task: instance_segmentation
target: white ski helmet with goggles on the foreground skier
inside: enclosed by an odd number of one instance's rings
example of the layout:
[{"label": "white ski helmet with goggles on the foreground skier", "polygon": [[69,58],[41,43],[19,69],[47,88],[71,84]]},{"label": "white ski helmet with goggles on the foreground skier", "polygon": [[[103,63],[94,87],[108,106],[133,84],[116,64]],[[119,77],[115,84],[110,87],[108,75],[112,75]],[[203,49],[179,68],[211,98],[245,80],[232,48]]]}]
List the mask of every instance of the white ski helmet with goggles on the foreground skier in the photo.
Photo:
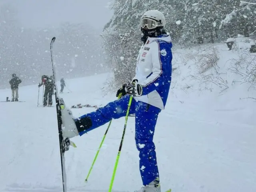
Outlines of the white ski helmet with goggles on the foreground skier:
[{"label": "white ski helmet with goggles on the foreground skier", "polygon": [[156,27],[165,27],[166,19],[164,14],[158,10],[149,10],[145,12],[141,18],[140,26],[148,29],[154,29]]}]

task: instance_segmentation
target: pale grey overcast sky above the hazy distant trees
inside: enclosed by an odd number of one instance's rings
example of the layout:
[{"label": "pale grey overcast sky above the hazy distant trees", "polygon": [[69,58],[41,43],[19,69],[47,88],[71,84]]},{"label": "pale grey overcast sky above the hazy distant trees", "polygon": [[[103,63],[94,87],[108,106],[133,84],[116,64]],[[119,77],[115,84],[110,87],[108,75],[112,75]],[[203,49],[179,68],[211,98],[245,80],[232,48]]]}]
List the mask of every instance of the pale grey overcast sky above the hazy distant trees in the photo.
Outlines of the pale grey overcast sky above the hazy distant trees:
[{"label": "pale grey overcast sky above the hazy distant trees", "polygon": [[102,29],[112,16],[112,0],[0,0],[18,11],[24,27],[49,26],[60,22],[86,22]]}]

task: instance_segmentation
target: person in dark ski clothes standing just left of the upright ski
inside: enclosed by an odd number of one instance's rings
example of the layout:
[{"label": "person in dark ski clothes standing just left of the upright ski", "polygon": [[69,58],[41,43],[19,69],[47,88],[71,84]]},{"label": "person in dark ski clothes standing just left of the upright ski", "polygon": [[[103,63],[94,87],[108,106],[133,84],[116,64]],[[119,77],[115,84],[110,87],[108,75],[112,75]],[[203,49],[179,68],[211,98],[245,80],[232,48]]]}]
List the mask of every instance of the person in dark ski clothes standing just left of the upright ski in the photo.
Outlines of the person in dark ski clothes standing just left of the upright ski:
[{"label": "person in dark ski clothes standing just left of the upright ski", "polygon": [[42,75],[42,82],[39,83],[38,87],[44,85],[44,101],[43,106],[52,106],[52,94],[54,89],[54,82],[51,78],[49,78],[47,75]]}]

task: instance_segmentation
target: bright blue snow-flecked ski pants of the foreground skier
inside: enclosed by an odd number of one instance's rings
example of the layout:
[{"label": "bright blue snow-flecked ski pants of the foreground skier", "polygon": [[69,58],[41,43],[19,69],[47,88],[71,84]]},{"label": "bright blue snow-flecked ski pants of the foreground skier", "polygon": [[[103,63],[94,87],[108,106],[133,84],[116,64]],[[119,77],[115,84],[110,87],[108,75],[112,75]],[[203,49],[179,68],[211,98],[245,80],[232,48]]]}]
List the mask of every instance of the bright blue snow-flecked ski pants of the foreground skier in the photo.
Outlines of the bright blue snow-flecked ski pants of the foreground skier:
[{"label": "bright blue snow-flecked ski pants of the foreground skier", "polygon": [[[90,118],[92,121],[89,128],[79,132],[80,136],[106,124],[112,118],[118,119],[126,116],[129,99],[130,96],[123,96],[122,98],[99,108],[95,112],[79,117],[77,120],[80,120],[80,122],[83,122],[83,118]],[[159,177],[153,136],[160,111],[161,110],[155,106],[132,99],[129,113],[135,113],[136,116],[135,141],[137,149],[140,152],[140,174],[143,185],[147,185],[156,177]]]}]

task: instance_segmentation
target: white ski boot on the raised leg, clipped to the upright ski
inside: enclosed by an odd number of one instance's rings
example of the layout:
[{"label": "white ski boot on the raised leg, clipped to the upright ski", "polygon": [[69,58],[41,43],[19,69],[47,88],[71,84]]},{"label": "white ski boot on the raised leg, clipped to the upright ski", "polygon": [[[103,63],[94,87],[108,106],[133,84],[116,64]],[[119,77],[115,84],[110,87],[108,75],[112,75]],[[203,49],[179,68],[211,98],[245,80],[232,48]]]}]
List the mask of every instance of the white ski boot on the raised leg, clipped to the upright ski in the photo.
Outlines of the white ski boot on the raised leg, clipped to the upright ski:
[{"label": "white ski boot on the raised leg, clipped to the upright ski", "polygon": [[78,130],[74,121],[72,111],[66,108],[62,98],[60,98],[61,118],[62,118],[62,136],[63,138],[73,138],[78,136]]}]

